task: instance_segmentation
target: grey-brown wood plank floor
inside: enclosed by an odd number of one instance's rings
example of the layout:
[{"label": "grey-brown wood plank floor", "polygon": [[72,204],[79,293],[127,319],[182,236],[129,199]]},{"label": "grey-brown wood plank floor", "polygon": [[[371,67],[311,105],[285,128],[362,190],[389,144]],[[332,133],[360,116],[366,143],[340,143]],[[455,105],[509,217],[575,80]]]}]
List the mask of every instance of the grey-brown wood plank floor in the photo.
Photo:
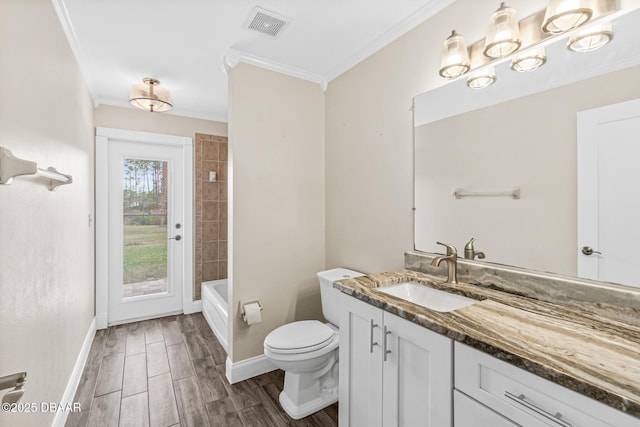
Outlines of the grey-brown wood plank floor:
[{"label": "grey-brown wood plank floor", "polygon": [[284,373],[236,384],[226,353],[200,313],[100,330],[67,427],[272,427],[338,425],[338,405],[292,420],[278,403]]}]

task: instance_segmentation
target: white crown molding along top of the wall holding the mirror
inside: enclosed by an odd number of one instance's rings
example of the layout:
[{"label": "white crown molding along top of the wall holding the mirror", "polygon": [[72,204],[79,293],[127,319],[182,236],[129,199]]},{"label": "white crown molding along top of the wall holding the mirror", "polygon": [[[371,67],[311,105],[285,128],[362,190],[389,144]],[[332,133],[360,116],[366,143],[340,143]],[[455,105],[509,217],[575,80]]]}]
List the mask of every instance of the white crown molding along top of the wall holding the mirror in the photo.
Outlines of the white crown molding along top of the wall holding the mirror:
[{"label": "white crown molding along top of the wall holding the mirror", "polygon": [[389,43],[399,39],[418,25],[431,18],[436,13],[453,4],[456,0],[430,0],[426,5],[418,9],[415,13],[395,25],[389,31],[360,49],[336,67],[328,71],[324,78],[330,82],[355,65],[367,59]]}]

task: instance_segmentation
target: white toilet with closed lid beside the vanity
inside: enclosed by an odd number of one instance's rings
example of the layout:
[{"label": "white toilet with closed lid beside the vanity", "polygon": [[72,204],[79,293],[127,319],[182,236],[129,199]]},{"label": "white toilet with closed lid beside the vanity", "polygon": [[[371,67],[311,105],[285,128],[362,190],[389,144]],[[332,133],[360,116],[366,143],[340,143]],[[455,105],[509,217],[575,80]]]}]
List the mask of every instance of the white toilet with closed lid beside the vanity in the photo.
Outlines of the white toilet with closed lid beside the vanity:
[{"label": "white toilet with closed lid beside the vanity", "polygon": [[330,323],[302,320],[274,329],[264,339],[264,354],[285,371],[280,405],[293,419],[338,401],[338,326],[340,291],[333,282],[362,273],[344,268],[318,273],[322,314]]}]

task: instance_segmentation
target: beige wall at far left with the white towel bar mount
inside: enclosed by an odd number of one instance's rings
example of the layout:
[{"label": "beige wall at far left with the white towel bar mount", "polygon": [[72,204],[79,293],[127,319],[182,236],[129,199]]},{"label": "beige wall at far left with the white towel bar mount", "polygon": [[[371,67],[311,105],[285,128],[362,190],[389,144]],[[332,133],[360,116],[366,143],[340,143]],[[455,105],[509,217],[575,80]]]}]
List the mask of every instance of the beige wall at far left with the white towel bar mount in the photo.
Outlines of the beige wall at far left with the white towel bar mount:
[{"label": "beige wall at far left with the white towel bar mount", "polygon": [[[1,4],[0,146],[73,183],[0,185],[0,376],[28,372],[21,402],[60,402],[94,316],[93,104],[51,2]],[[0,411],[0,425],[53,416]]]}]

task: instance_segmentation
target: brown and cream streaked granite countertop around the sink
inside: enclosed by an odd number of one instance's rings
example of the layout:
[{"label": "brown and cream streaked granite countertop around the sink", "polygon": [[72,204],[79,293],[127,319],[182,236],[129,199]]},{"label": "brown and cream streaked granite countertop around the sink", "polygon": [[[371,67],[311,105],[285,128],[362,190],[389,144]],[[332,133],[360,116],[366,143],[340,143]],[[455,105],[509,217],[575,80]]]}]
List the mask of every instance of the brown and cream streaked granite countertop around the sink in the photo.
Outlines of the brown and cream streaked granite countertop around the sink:
[{"label": "brown and cream streaked granite countertop around the sink", "polygon": [[[479,300],[441,313],[375,289],[405,281]],[[339,280],[334,287],[498,359],[640,418],[640,327],[565,306],[412,270]]]}]

